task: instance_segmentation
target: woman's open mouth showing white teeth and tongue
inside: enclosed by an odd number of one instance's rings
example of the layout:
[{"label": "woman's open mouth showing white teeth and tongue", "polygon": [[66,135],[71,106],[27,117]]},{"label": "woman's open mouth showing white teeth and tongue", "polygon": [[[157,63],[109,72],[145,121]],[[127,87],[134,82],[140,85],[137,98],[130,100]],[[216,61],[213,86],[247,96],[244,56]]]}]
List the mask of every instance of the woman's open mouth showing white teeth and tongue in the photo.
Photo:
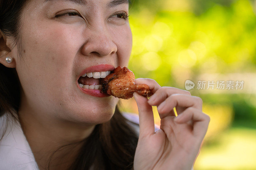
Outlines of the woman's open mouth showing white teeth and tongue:
[{"label": "woman's open mouth showing white teeth and tongue", "polygon": [[83,89],[101,90],[101,79],[110,74],[110,71],[85,73],[78,79],[78,84]]}]

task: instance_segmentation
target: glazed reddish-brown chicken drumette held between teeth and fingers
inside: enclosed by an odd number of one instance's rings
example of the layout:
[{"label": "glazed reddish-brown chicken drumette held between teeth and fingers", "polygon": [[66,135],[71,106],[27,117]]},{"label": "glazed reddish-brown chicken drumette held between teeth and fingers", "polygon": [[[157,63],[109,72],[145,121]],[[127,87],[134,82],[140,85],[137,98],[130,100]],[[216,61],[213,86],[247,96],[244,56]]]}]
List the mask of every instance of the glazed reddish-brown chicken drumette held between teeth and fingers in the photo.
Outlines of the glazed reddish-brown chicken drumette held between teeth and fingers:
[{"label": "glazed reddish-brown chicken drumette held between teeth and fingers", "polygon": [[101,83],[101,92],[121,99],[132,98],[133,92],[137,92],[144,97],[153,95],[148,85],[135,85],[135,76],[133,72],[126,67],[121,68],[119,66],[115,68],[106,78],[101,80]]}]

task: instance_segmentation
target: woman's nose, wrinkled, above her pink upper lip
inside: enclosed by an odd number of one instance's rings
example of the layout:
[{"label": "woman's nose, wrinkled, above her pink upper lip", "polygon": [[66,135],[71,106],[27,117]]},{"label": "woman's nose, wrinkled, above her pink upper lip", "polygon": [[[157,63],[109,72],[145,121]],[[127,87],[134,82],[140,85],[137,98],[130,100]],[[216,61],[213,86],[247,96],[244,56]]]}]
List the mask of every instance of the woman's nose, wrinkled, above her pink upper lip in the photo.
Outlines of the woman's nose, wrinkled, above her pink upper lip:
[{"label": "woman's nose, wrinkled, above her pink upper lip", "polygon": [[[87,34],[88,35],[88,34]],[[82,47],[82,53],[85,56],[97,55],[100,57],[115,54],[117,51],[116,44],[113,42],[111,35],[104,31],[94,31],[87,37],[87,41]]]}]

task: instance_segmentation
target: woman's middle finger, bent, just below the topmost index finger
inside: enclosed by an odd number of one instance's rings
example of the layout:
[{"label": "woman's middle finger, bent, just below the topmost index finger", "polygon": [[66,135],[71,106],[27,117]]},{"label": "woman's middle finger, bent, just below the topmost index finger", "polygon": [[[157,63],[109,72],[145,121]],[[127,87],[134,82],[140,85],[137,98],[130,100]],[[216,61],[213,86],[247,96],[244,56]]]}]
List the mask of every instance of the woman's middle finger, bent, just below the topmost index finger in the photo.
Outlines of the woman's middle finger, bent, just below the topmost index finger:
[{"label": "woman's middle finger, bent, just below the topmost index finger", "polygon": [[186,90],[181,90],[175,87],[161,87],[150,97],[150,99],[148,100],[148,104],[150,104],[151,106],[157,106],[162,103],[167,97],[175,93],[191,96],[190,92]]}]

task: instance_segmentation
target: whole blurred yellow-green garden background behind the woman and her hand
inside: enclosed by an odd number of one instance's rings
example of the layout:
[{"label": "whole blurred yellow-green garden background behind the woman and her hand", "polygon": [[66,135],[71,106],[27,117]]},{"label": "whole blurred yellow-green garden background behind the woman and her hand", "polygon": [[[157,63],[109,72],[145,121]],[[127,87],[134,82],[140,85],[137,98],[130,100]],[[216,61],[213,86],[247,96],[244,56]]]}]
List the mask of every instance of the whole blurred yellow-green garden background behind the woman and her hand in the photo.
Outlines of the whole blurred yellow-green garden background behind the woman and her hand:
[{"label": "whole blurred yellow-green garden background behind the woman and her hand", "polygon": [[[129,69],[135,77],[184,90],[185,81],[193,81],[190,92],[203,99],[203,111],[211,117],[194,169],[256,169],[255,2],[135,0],[129,15]],[[244,85],[198,90],[198,80],[243,80]],[[137,113],[133,100],[122,101],[125,111]]]}]

